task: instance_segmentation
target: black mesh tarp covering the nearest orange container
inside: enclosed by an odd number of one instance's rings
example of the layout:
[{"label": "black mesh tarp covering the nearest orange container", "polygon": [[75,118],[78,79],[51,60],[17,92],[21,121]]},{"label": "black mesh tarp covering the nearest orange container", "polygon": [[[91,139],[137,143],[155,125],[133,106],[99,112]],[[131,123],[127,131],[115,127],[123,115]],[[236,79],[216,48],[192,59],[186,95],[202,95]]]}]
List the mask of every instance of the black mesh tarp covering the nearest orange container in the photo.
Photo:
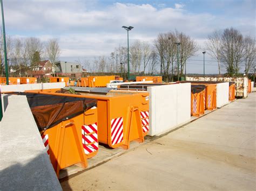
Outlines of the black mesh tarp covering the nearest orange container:
[{"label": "black mesh tarp covering the nearest orange container", "polygon": [[14,94],[26,96],[39,131],[52,128],[62,121],[83,114],[94,106],[97,107],[97,100],[92,98],[33,93]]}]

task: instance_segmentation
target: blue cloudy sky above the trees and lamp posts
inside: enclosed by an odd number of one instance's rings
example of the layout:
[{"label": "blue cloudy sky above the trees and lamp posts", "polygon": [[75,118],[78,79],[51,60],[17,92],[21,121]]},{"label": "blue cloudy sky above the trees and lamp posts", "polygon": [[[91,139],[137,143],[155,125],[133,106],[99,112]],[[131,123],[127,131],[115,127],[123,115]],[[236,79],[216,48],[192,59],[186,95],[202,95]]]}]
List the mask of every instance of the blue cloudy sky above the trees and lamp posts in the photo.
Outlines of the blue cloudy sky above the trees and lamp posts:
[{"label": "blue cloudy sky above the trees and lamp posts", "polygon": [[[177,29],[197,41],[197,56],[187,73],[203,73],[204,41],[213,30],[234,27],[255,37],[255,0],[93,1],[3,0],[5,32],[14,37],[58,38],[60,60],[76,61],[126,46],[122,26],[133,26],[130,42],[152,42],[160,32]],[[206,60],[212,58],[206,54]],[[217,62],[206,62],[206,73],[218,73]]]}]

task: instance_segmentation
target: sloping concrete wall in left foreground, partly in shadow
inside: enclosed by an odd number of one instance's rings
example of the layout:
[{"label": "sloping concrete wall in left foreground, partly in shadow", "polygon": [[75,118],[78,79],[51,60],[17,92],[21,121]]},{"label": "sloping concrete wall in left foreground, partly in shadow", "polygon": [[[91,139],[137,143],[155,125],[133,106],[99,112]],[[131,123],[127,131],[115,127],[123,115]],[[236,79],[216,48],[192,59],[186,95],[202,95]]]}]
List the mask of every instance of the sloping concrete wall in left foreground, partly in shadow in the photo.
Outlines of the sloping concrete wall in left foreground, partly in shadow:
[{"label": "sloping concrete wall in left foreground, partly in shadow", "polygon": [[62,190],[26,97],[8,102],[0,124],[0,190]]}]

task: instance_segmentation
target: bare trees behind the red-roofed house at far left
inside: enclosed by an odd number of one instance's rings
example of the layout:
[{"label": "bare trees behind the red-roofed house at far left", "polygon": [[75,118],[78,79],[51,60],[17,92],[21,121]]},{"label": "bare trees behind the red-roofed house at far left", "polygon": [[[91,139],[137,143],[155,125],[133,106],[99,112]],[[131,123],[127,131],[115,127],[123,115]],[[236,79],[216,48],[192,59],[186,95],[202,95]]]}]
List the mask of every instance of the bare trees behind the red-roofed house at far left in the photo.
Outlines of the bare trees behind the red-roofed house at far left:
[{"label": "bare trees behind the red-roofed house at far left", "polygon": [[[2,39],[2,38],[1,38]],[[0,71],[4,73],[3,41],[0,44]],[[6,52],[9,70],[12,75],[21,76],[29,67],[36,66],[41,59],[48,59],[55,63],[59,59],[60,47],[58,40],[53,38],[42,42],[39,38],[11,38],[6,37]]]}]

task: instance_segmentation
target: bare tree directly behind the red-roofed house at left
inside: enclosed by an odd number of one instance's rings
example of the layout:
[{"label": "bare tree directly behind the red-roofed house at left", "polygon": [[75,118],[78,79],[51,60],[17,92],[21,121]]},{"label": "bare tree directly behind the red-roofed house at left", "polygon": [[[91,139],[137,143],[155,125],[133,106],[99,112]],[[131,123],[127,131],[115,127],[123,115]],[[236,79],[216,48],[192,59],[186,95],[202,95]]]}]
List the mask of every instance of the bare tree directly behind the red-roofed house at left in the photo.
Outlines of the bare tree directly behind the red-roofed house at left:
[{"label": "bare tree directly behind the red-roofed house at left", "polygon": [[38,52],[39,54],[42,54],[43,52],[43,44],[39,38],[30,37],[25,39],[25,48],[26,48],[26,54],[28,55],[28,60],[30,62],[30,65],[33,66],[35,63],[32,63],[33,61],[33,55],[35,52]]}]

